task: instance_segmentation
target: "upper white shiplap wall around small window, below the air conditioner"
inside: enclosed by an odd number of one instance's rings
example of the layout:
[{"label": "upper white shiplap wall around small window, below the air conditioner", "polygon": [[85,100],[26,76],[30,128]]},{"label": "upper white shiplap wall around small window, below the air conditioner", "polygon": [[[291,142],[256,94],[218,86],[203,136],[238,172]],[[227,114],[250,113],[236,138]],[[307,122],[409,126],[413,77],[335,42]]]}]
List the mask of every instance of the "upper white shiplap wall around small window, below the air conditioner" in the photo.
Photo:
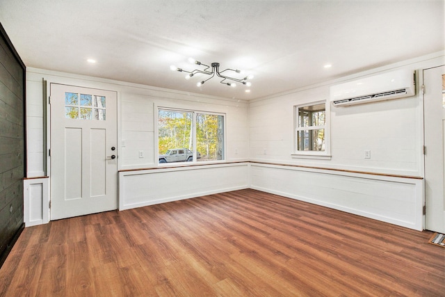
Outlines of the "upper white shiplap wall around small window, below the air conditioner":
[{"label": "upper white shiplap wall around small window, below the air conditioner", "polygon": [[[411,70],[418,70],[414,67]],[[419,92],[415,97],[347,107],[329,106],[329,97],[330,85],[325,85],[250,103],[251,159],[398,175],[423,174],[423,109]],[[332,158],[295,158],[291,155],[293,106],[320,100],[327,100],[330,108]],[[371,151],[371,159],[364,159],[365,150]]]}]

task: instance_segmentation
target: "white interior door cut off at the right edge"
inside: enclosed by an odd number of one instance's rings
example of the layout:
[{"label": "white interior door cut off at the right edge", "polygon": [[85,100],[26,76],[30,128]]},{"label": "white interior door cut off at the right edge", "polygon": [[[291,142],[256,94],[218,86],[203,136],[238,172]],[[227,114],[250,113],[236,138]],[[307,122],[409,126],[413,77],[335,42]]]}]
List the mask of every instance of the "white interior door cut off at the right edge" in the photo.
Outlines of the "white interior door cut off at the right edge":
[{"label": "white interior door cut off at the right edge", "polygon": [[445,66],[423,70],[426,229],[445,233]]}]

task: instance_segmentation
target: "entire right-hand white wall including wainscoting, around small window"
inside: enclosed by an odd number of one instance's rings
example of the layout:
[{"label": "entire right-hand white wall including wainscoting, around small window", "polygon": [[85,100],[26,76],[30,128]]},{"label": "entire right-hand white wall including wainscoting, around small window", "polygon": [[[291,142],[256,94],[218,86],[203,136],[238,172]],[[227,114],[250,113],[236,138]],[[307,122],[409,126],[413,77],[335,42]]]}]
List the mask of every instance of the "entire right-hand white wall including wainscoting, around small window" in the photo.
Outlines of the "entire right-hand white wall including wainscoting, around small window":
[{"label": "entire right-hand white wall including wainscoting, around small window", "polygon": [[[423,95],[419,86],[423,69],[443,63],[444,53],[437,53],[254,100],[249,105],[250,160],[268,164],[252,164],[250,187],[422,230]],[[416,71],[414,97],[327,106],[332,157],[291,155],[293,106],[320,100],[330,104],[330,86],[401,68]],[[371,159],[364,159],[365,150],[371,151]]]}]

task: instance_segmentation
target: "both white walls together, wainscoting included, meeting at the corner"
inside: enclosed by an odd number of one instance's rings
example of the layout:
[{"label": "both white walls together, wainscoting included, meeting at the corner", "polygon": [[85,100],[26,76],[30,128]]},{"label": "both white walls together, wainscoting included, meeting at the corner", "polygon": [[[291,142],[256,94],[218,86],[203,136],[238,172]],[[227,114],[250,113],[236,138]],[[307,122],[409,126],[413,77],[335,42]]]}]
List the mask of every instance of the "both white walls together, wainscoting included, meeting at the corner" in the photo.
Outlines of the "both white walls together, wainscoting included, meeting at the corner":
[{"label": "both white walls together, wainscoting included, meeting at the corner", "polygon": [[[53,83],[118,92],[118,168],[122,170],[119,180],[122,209],[251,187],[421,230],[424,200],[423,97],[419,92],[415,97],[387,102],[332,107],[331,159],[297,159],[291,156],[293,106],[328,100],[329,88],[335,83],[396,68],[415,70],[419,86],[421,70],[443,62],[443,53],[432,54],[253,102],[237,102],[220,97],[29,68],[26,85],[28,176],[41,177],[44,174],[42,79],[45,79]],[[177,170],[157,168],[154,123],[156,106],[225,113],[227,161],[259,163],[188,166]],[[144,151],[145,157],[142,159],[138,156],[139,150]],[[371,159],[364,159],[364,150],[371,150]],[[346,175],[335,170],[351,172],[346,178]],[[189,176],[193,176],[195,181],[214,178],[207,189],[204,184],[195,182],[179,183],[175,191],[171,191],[171,188],[162,186],[162,183],[154,182],[170,177],[187,180]],[[238,181],[234,182],[233,178]],[[43,180],[50,182],[51,179]],[[140,188],[136,188],[138,184],[141,185]],[[358,192],[357,184],[366,185],[363,189],[371,191],[371,195],[366,195],[364,191]],[[307,185],[311,185],[314,191],[309,191],[310,187],[308,190]],[[401,191],[397,191],[398,189]],[[401,205],[405,207],[400,207]]]}]

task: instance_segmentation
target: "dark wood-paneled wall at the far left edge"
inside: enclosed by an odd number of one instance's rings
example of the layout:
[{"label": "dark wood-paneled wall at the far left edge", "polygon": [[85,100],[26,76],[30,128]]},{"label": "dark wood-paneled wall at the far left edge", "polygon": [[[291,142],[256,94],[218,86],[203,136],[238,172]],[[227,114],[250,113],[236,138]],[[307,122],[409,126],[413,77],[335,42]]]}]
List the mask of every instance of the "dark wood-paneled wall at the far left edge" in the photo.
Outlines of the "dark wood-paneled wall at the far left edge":
[{"label": "dark wood-paneled wall at the far left edge", "polygon": [[24,228],[25,74],[0,24],[0,266]]}]

